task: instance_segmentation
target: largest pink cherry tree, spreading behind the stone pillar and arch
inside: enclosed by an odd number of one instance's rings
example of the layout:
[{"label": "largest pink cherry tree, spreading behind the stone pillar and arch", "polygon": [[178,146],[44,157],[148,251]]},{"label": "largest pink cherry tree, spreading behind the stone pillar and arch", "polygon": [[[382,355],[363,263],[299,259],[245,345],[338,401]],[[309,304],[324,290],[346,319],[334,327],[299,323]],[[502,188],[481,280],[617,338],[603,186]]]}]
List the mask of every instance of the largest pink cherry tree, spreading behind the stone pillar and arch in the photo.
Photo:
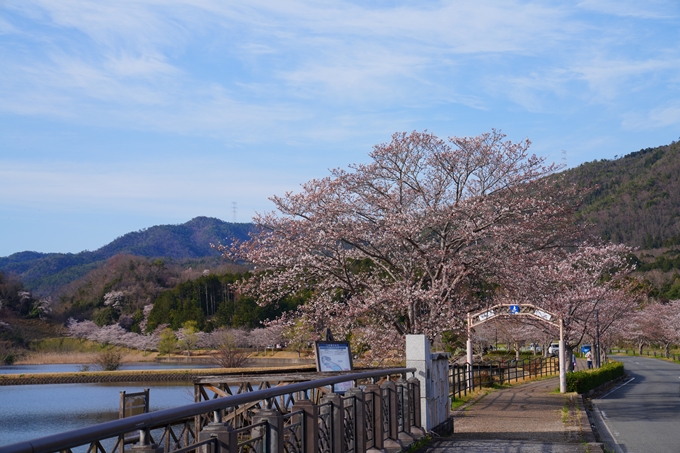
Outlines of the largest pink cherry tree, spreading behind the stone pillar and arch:
[{"label": "largest pink cherry tree, spreading behind the stone pillar and arch", "polygon": [[585,192],[529,145],[495,130],[395,134],[368,163],[272,197],[250,241],[218,248],[260,271],[240,291],[262,304],[311,292],[296,322],[361,332],[380,357],[403,351],[404,334],[465,334],[468,312],[497,303],[559,314],[575,345],[596,312],[606,332],[637,307],[629,250],[589,237],[575,218]]}]

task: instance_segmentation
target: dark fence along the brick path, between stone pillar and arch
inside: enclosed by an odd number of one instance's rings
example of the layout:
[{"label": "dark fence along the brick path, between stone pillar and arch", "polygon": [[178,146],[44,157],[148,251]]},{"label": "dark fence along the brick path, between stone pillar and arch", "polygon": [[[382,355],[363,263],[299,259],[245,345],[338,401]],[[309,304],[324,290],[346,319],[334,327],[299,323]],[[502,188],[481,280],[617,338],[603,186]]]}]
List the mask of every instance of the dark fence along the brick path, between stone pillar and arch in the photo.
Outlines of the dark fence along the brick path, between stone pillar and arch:
[{"label": "dark fence along the brick path, between stone pillar and arch", "polygon": [[454,363],[449,368],[449,393],[451,400],[482,387],[503,385],[521,379],[559,374],[557,357],[478,362],[470,370],[467,363]]}]

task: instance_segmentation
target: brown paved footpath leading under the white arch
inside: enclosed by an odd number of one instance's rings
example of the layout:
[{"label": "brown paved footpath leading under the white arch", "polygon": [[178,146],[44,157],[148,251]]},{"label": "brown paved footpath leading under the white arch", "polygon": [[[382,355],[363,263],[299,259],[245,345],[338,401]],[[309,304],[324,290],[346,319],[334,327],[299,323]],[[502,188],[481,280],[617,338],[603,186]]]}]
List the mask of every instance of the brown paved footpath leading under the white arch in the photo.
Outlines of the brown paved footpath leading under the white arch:
[{"label": "brown paved footpath leading under the white arch", "polygon": [[454,434],[427,453],[601,453],[576,394],[555,393],[558,378],[494,390],[454,412]]}]

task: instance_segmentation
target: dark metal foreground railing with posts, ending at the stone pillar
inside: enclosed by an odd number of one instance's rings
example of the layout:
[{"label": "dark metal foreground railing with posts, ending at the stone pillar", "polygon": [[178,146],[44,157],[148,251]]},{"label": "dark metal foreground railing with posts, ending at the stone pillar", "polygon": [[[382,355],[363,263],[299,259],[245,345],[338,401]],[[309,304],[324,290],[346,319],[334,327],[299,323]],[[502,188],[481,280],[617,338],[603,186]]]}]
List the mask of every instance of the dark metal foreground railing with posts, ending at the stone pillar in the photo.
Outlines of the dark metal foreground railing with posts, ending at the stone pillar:
[{"label": "dark metal foreground railing with posts, ending at the stone pillar", "polygon": [[[424,434],[420,382],[407,379],[407,373],[414,372],[415,368],[393,368],[338,373],[2,446],[0,453],[123,453],[132,443],[135,453],[401,449]],[[344,395],[329,391],[347,381],[354,386]],[[315,395],[318,401],[310,399]]]}]

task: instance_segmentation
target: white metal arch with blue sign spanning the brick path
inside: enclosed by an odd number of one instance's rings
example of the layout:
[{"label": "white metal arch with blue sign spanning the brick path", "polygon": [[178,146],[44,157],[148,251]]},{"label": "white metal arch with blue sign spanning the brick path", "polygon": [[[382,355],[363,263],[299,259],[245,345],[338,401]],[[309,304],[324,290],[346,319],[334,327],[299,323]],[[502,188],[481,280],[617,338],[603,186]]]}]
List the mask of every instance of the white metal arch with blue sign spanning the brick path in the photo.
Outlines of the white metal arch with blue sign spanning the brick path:
[{"label": "white metal arch with blue sign spanning the brick path", "polygon": [[467,362],[469,376],[472,378],[472,328],[500,316],[529,316],[560,329],[560,350],[558,354],[560,370],[560,393],[567,392],[567,373],[564,363],[564,324],[562,318],[554,313],[531,304],[498,304],[477,313],[468,313]]}]

